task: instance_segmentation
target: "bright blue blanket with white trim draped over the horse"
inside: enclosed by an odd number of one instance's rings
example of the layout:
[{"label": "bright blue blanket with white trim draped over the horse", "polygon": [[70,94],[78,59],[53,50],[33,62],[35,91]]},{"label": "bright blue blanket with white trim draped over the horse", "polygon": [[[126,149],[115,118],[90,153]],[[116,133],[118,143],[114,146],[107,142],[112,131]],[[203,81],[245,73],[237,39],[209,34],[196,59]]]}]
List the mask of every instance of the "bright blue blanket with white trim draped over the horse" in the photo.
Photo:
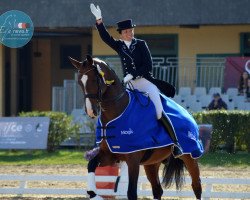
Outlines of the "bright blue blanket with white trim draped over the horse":
[{"label": "bright blue blanket with white trim draped over the horse", "polygon": [[[113,153],[132,153],[145,149],[160,148],[173,144],[165,128],[156,118],[152,101],[137,91],[127,91],[129,104],[123,113],[102,127],[99,117],[96,142],[107,140]],[[139,100],[138,100],[139,99]],[[198,126],[193,117],[173,100],[161,95],[164,111],[169,116],[185,154],[198,158],[203,147],[198,139]]]}]

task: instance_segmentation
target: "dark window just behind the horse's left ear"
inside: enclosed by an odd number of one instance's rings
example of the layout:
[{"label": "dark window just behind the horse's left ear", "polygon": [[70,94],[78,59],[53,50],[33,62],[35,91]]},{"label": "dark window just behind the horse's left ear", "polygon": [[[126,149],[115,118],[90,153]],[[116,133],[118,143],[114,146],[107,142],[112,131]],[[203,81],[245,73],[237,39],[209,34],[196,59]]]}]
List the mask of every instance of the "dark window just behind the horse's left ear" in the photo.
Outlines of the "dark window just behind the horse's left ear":
[{"label": "dark window just behind the horse's left ear", "polygon": [[69,56],[81,60],[81,45],[61,45],[60,46],[60,66],[62,69],[72,69]]}]

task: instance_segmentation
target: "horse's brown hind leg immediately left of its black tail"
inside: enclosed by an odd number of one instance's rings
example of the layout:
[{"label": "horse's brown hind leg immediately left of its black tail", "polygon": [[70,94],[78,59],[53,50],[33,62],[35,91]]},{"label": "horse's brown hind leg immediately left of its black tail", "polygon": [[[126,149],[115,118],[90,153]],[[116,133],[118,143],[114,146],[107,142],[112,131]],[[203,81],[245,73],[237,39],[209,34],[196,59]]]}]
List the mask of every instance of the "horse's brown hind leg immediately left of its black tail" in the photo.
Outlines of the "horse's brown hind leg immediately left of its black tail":
[{"label": "horse's brown hind leg immediately left of its black tail", "polygon": [[161,196],[163,194],[163,190],[161,187],[159,174],[158,174],[160,165],[161,165],[160,163],[153,164],[153,165],[144,165],[145,173],[152,186],[154,199],[158,199],[158,200],[161,199]]}]

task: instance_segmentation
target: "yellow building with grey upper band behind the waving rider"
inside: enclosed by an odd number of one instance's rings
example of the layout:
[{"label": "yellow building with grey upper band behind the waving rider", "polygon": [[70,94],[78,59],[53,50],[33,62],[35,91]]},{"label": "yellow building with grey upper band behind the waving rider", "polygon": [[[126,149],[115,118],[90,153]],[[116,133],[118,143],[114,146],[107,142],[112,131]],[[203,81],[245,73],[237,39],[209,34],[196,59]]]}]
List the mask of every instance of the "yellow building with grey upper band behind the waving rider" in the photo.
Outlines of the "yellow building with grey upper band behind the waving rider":
[{"label": "yellow building with grey upper band behind the waving rider", "polygon": [[[92,54],[107,60],[118,58],[95,29],[95,19],[89,10],[91,2],[0,2],[0,14],[23,11],[35,27],[31,41],[22,48],[0,44],[0,116],[51,110],[52,87],[74,79],[75,70],[68,56],[83,59],[86,54]],[[248,0],[98,0],[94,3],[100,6],[104,23],[115,38],[119,38],[116,22],[132,18],[137,25],[136,37],[147,41],[155,62],[165,66],[171,59],[178,60],[175,62],[178,71],[170,75],[176,78],[169,79],[177,87],[197,86],[197,59],[250,56]],[[187,63],[191,66],[188,70]]]}]

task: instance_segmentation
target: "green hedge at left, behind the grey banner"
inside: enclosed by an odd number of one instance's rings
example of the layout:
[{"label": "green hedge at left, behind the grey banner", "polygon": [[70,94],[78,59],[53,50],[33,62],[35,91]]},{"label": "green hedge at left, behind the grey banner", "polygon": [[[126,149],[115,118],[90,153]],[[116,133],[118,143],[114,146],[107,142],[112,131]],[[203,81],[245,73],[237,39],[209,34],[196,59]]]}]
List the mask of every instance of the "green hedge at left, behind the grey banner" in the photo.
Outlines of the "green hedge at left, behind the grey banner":
[{"label": "green hedge at left, behind the grey banner", "polygon": [[47,151],[54,152],[69,137],[79,137],[79,125],[72,123],[72,117],[63,112],[21,112],[21,117],[49,117],[49,135]]}]

